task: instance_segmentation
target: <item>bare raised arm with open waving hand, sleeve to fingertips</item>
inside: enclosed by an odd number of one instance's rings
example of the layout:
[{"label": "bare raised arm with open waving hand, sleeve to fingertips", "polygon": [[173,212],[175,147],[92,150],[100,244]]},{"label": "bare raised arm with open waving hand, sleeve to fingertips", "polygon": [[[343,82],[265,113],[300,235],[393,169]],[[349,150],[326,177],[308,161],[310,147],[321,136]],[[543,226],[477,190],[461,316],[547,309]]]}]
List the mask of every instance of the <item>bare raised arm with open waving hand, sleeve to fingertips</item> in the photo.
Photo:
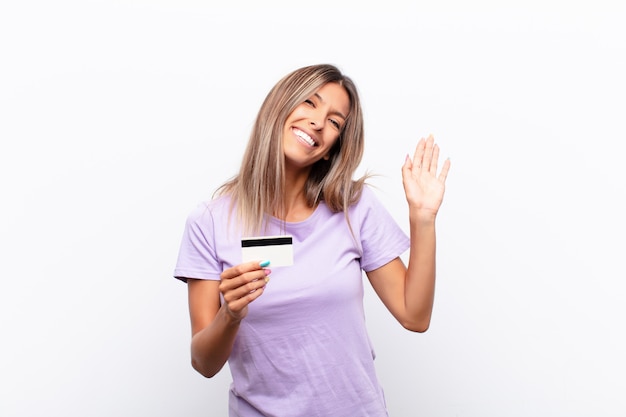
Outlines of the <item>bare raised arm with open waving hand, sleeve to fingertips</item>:
[{"label": "bare raised arm with open waving hand, sleeve to fingertips", "polygon": [[372,287],[391,314],[405,328],[425,332],[430,326],[435,298],[435,219],[450,169],[446,160],[437,173],[439,147],[434,139],[420,140],[413,160],[407,157],[402,179],[409,204],[410,254],[405,267],[400,258],[368,272]]}]

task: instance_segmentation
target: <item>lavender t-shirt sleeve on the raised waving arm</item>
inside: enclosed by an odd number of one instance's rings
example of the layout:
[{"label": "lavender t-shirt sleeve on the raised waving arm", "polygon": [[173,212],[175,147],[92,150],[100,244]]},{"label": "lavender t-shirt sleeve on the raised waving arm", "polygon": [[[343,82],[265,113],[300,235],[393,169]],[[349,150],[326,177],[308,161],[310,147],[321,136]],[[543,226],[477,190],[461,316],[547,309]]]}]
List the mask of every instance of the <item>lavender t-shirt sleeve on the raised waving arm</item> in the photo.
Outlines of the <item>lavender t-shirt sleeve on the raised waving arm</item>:
[{"label": "lavender t-shirt sleeve on the raised waving arm", "polygon": [[360,221],[361,268],[365,272],[380,268],[409,249],[409,237],[368,186],[363,187],[355,214]]}]

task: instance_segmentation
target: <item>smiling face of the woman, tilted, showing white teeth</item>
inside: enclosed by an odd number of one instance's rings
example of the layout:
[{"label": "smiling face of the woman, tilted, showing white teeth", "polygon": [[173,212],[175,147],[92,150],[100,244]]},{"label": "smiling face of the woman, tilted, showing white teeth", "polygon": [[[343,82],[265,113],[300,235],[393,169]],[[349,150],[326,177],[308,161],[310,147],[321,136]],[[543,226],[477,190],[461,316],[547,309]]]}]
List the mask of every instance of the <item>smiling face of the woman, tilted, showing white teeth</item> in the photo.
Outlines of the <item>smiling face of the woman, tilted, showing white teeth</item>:
[{"label": "smiling face of the woman, tilted, showing white teeth", "polygon": [[339,138],[350,111],[350,98],[338,83],[324,84],[287,117],[283,150],[287,167],[310,168]]}]

